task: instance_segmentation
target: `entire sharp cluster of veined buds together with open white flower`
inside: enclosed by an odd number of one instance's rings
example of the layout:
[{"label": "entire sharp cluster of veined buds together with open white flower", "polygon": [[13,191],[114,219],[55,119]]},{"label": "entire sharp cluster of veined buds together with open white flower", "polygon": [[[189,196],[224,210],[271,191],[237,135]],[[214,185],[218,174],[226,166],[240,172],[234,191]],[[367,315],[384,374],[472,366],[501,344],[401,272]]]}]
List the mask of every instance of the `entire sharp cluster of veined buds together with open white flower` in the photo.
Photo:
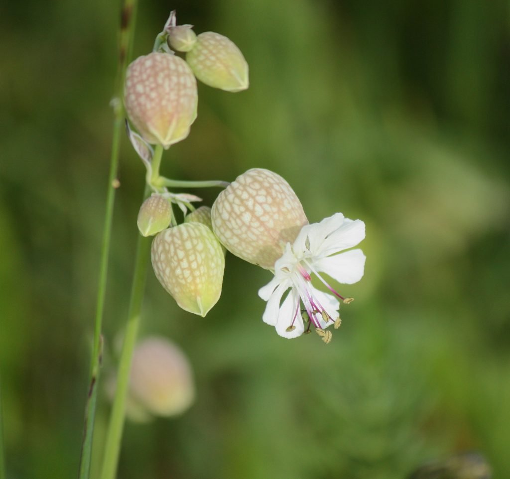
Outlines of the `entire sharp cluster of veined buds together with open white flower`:
[{"label": "entire sharp cluster of veined buds together with open white flower", "polygon": [[[274,274],[259,290],[267,301],[266,323],[286,338],[310,333],[313,327],[327,344],[332,336],[327,327],[337,329],[341,323],[340,302],[352,301],[331,287],[327,277],[346,284],[362,278],[365,256],[351,248],[365,237],[365,223],[336,213],[309,224],[290,185],[261,168],[246,171],[231,184],[217,182],[225,189],[212,208],[195,209],[191,202],[200,198],[170,193],[167,186],[175,182],[165,182],[154,171],[159,162],[152,164],[150,144],[168,148],[186,138],[197,115],[195,77],[237,92],[248,87],[248,65],[231,40],[214,32],[196,35],[191,25],[177,26],[172,12],[154,52],[127,69],[124,97],[139,132],[128,127],[130,139],[155,191],[140,209],[138,228],[143,236],[155,236],[151,260],[156,276],[182,309],[205,316],[220,297],[228,250]],[[172,204],[184,213],[181,224]],[[312,276],[327,293],[312,285]]]}]

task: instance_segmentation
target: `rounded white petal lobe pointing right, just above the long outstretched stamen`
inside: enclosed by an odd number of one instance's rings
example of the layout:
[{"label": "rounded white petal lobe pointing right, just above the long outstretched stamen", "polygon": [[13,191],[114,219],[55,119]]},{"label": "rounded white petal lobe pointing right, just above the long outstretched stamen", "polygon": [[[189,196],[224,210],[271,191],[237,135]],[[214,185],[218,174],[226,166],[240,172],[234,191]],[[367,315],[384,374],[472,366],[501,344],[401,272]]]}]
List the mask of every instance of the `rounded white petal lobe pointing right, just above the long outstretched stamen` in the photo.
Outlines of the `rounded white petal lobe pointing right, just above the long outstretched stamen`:
[{"label": "rounded white petal lobe pointing right, just above the long outstretched stamen", "polygon": [[351,285],[363,278],[366,257],[361,249],[315,260],[313,266],[339,283]]}]

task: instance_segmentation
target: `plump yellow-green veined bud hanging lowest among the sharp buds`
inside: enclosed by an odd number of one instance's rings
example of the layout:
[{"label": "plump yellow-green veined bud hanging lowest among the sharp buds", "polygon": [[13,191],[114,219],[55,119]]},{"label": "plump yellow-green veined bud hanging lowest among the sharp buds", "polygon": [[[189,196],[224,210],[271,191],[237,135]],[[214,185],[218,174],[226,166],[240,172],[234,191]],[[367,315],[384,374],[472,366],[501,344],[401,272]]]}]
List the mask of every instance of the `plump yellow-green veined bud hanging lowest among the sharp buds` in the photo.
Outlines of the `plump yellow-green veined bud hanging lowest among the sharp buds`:
[{"label": "plump yellow-green veined bud hanging lowest among the sharp buds", "polygon": [[205,316],[221,294],[225,259],[214,233],[197,222],[159,233],[152,241],[152,267],[177,304]]}]

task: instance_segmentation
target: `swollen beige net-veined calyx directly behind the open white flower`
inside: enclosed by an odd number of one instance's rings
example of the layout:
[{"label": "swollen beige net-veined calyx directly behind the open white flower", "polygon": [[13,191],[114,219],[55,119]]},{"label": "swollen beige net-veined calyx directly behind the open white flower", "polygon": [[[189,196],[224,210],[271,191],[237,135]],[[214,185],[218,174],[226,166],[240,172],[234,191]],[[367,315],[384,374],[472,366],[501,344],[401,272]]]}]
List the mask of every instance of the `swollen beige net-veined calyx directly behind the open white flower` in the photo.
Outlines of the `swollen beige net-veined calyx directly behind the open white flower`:
[{"label": "swollen beige net-veined calyx directly behind the open white flower", "polygon": [[308,224],[303,207],[289,184],[272,171],[253,168],[237,177],[214,202],[213,231],[239,258],[273,269]]}]

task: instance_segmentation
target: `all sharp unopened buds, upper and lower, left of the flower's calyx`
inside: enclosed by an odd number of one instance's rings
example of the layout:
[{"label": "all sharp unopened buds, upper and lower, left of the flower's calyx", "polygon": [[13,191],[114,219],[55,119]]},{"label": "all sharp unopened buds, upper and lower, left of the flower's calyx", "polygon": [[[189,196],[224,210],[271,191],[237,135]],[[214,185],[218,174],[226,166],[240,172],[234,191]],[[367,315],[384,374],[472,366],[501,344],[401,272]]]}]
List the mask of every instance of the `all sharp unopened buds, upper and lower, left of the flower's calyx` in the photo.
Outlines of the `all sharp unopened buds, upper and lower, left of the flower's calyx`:
[{"label": "all sharp unopened buds, upper and lower, left of the flower's calyx", "polygon": [[[157,184],[159,171],[154,168],[159,165],[152,164],[151,147],[166,149],[188,136],[197,116],[195,77],[215,88],[241,91],[248,88],[248,64],[231,40],[213,32],[197,36],[191,25],[177,25],[171,12],[154,51],[127,67],[124,106],[138,132],[127,123],[130,140],[154,190],[142,204],[137,221],[141,235],[155,236],[152,266],[181,308],[205,316],[221,294],[225,248],[212,231],[211,209],[194,210],[190,205],[200,198],[172,194]],[[184,223],[177,224],[172,204],[184,212]],[[191,213],[186,214],[188,210]]]}]

